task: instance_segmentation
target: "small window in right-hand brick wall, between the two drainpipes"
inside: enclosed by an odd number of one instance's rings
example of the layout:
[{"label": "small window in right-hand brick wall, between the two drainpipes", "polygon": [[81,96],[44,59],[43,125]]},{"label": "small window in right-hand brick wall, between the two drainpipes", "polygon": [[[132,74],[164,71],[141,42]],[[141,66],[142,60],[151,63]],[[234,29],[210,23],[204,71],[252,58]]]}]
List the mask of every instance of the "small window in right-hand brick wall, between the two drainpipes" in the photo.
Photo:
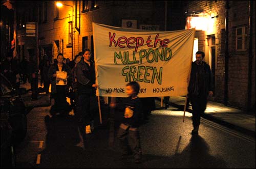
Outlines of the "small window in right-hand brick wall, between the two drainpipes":
[{"label": "small window in right-hand brick wall, between the two drainpipes", "polygon": [[236,29],[236,49],[237,51],[246,50],[247,27],[237,27]]}]

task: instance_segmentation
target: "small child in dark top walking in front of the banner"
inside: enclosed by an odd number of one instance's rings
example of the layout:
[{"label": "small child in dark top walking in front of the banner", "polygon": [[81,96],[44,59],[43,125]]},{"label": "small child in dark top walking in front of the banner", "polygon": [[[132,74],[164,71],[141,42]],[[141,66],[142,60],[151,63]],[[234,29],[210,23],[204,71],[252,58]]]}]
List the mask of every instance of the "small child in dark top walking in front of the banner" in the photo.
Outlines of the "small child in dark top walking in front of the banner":
[{"label": "small child in dark top walking in front of the banner", "polygon": [[[131,149],[136,163],[141,162],[141,145],[140,145],[140,134],[139,125],[140,117],[142,114],[141,100],[138,97],[140,90],[139,83],[131,81],[126,84],[127,98],[123,100],[124,116],[119,126],[117,138],[119,140],[120,148],[122,151],[122,157],[129,155],[129,140],[131,139]],[[111,107],[115,107],[115,103],[110,103]]]}]

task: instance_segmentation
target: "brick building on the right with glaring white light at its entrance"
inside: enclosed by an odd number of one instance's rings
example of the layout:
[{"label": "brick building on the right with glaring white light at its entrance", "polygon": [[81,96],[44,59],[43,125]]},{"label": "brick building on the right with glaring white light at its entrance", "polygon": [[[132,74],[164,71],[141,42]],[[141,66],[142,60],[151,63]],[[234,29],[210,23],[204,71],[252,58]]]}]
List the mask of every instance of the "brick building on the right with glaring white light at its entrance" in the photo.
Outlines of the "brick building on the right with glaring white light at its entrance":
[{"label": "brick building on the right with glaring white light at its entrance", "polygon": [[214,73],[211,99],[255,113],[255,1],[189,1],[186,13]]}]

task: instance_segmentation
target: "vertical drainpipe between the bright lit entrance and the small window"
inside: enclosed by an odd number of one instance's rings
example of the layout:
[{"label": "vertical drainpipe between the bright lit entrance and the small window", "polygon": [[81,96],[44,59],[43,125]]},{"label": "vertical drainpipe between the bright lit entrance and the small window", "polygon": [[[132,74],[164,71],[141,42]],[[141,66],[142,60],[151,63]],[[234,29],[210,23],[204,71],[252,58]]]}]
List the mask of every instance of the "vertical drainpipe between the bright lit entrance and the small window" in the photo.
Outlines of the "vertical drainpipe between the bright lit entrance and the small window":
[{"label": "vertical drainpipe between the bright lit entrance and the small window", "polygon": [[228,58],[229,58],[229,52],[228,52],[228,9],[229,9],[229,4],[228,4],[228,1],[226,1],[224,105],[227,105],[227,103],[228,103]]}]

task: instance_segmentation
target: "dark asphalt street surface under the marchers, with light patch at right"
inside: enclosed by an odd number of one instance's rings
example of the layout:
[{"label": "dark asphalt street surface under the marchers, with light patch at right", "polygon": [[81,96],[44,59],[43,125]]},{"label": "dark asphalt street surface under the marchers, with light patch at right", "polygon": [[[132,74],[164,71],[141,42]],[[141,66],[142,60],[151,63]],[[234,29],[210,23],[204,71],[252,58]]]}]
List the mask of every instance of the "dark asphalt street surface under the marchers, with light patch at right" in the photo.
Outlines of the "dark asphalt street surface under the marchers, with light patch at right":
[{"label": "dark asphalt street surface under the marchers, with light patch at right", "polygon": [[[192,136],[191,114],[182,123],[183,111],[174,107],[153,111],[140,127],[141,164],[133,156],[120,159],[116,138],[109,146],[106,110],[103,125],[96,118],[83,146],[75,116],[50,118],[50,108],[29,112],[27,136],[16,148],[17,168],[255,168],[255,138],[204,119],[199,136]],[[115,133],[121,116],[115,112]]]}]

